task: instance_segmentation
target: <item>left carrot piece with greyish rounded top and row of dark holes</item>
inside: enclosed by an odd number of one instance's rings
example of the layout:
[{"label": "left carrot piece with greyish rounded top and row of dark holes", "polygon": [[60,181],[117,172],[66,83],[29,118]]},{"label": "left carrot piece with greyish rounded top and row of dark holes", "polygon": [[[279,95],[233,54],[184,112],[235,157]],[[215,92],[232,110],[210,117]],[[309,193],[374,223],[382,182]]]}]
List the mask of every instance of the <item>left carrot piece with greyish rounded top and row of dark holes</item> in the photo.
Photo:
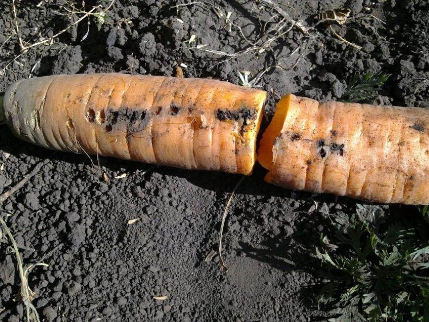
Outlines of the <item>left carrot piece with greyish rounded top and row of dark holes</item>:
[{"label": "left carrot piece with greyish rounded top and row of dark holes", "polygon": [[3,112],[46,148],[248,175],[265,96],[211,79],[57,75],[11,84]]}]

